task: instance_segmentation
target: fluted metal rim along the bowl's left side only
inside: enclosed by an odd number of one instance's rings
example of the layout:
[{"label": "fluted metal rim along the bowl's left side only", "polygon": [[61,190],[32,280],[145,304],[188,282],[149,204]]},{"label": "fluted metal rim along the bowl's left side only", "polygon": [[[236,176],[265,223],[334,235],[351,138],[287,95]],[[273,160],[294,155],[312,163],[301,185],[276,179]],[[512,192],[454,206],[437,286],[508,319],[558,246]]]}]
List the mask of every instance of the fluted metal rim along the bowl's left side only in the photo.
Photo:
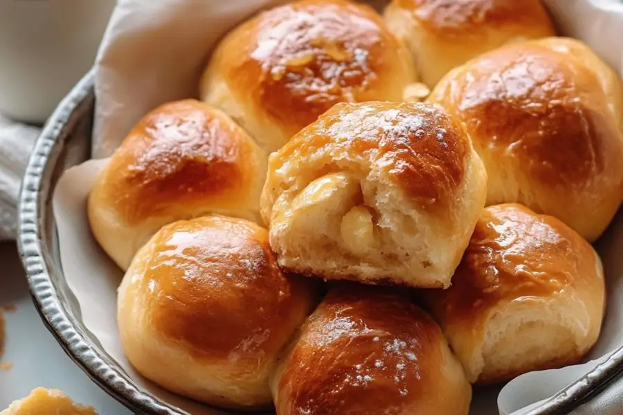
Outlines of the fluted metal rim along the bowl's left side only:
[{"label": "fluted metal rim along the bowl's left side only", "polygon": [[54,273],[62,275],[62,270],[53,266],[51,251],[43,242],[46,221],[54,220],[44,217],[53,186],[43,179],[55,168],[51,156],[64,147],[68,129],[72,127],[69,122],[75,111],[92,99],[94,84],[95,71],[91,69],[55,109],[28,159],[19,194],[17,246],[30,296],[39,317],[67,356],[107,394],[138,414],[186,415],[187,412],[162,403],[135,385],[123,369],[94,349],[93,342],[79,327],[78,319],[67,310],[64,295],[51,278]]}]

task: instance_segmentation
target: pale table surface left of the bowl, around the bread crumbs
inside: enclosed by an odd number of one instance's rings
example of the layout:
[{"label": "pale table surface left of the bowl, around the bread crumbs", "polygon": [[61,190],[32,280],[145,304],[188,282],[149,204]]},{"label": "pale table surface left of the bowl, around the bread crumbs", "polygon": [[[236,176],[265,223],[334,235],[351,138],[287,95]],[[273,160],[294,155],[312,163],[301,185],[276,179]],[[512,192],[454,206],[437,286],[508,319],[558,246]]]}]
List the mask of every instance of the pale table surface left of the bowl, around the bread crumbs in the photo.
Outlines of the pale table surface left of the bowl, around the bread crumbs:
[{"label": "pale table surface left of the bowl, around the bread crumbs", "polygon": [[108,396],[66,356],[42,323],[28,293],[15,243],[0,243],[0,306],[15,306],[6,313],[5,354],[0,369],[0,412],[35,387],[61,389],[76,402],[96,407],[100,415],[131,414]]}]

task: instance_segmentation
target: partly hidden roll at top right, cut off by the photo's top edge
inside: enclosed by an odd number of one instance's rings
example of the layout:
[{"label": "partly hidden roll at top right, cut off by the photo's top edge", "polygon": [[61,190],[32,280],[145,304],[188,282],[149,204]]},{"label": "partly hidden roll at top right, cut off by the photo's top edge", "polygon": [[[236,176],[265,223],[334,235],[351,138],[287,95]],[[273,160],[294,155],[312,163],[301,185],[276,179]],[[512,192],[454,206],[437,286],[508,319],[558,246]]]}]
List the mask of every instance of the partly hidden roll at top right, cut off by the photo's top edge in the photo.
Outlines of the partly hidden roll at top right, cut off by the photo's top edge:
[{"label": "partly hidden roll at top right, cut off by the photo's top edge", "polygon": [[428,86],[481,53],[555,35],[540,0],[393,0],[385,21]]}]

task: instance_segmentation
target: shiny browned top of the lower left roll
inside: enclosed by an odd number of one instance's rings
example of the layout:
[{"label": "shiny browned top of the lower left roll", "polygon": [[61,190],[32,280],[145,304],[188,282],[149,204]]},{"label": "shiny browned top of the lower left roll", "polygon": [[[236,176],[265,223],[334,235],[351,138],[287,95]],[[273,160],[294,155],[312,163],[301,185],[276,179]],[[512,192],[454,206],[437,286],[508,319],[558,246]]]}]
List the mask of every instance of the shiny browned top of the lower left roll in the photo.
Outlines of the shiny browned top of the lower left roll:
[{"label": "shiny browned top of the lower left roll", "polygon": [[260,365],[273,356],[311,300],[304,282],[281,272],[267,237],[224,216],[163,228],[140,280],[152,330],[194,358]]}]

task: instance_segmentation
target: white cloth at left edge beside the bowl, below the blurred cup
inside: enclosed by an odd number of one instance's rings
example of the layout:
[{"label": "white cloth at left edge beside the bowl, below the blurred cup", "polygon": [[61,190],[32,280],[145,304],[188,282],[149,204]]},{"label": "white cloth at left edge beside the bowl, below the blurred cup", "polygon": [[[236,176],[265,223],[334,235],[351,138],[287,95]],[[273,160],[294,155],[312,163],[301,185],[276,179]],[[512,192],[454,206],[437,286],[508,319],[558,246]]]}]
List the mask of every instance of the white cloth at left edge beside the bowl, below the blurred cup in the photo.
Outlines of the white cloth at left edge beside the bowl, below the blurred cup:
[{"label": "white cloth at left edge beside the bowl, below the blurred cup", "polygon": [[0,241],[15,239],[21,176],[39,131],[0,115]]}]

